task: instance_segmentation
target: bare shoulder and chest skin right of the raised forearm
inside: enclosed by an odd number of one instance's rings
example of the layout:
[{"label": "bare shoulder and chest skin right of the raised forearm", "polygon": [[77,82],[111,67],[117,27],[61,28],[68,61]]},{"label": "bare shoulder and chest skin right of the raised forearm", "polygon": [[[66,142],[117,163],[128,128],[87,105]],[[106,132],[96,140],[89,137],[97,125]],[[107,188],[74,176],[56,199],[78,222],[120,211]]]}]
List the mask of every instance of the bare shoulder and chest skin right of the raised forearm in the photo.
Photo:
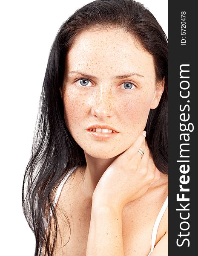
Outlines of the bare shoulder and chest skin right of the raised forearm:
[{"label": "bare shoulder and chest skin right of the raised forearm", "polygon": [[[133,255],[134,251],[141,251],[148,255],[151,248],[152,230],[158,214],[168,195],[168,179],[166,175],[155,186],[137,200],[130,202],[123,209],[123,244],[126,256]],[[168,233],[168,208],[163,212],[160,220],[155,246],[163,239],[163,244]],[[142,243],[144,241],[144,247]]]}]

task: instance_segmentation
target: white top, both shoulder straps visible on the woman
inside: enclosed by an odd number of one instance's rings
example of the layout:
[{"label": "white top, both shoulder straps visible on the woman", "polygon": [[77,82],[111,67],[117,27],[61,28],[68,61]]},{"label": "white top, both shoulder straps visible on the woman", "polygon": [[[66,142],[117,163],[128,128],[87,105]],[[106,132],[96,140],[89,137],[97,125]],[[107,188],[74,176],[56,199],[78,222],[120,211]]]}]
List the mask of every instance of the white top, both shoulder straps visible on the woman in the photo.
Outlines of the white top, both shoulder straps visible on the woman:
[{"label": "white top, both shoulder straps visible on the woman", "polygon": [[[56,195],[55,195],[54,207],[57,204],[58,198],[59,198],[60,193],[61,193],[61,191],[63,189],[63,186],[64,186],[64,184],[66,182],[66,179],[69,177],[71,172],[73,170],[75,170],[75,169],[76,169],[76,167],[71,169],[71,171],[67,173],[67,175],[63,178],[63,180],[61,181],[60,185],[58,186],[57,191],[56,191]],[[151,250],[150,250],[148,256],[150,256],[152,254],[152,252],[153,252],[153,249],[154,249],[154,246],[155,246],[156,237],[157,237],[158,227],[159,227],[160,221],[161,221],[161,219],[162,219],[162,217],[164,215],[164,212],[166,211],[167,206],[168,206],[168,196],[167,196],[166,200],[164,201],[164,204],[161,207],[161,210],[158,213],[158,216],[157,216],[157,218],[155,220],[155,224],[153,226],[152,235],[151,235]],[[52,211],[51,211],[51,214],[49,216],[49,219],[51,218],[51,216],[52,216]],[[49,221],[49,219],[48,219],[48,221]]]}]

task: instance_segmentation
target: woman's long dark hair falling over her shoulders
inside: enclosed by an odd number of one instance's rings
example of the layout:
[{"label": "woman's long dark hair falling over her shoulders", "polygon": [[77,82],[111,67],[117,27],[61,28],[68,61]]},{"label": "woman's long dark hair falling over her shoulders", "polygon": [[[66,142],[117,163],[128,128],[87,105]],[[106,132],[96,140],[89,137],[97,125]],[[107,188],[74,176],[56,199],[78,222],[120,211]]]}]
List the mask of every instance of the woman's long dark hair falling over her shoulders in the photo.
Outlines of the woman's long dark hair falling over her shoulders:
[{"label": "woman's long dark hair falling over her shoulders", "polygon": [[[146,138],[156,167],[168,173],[168,43],[155,17],[133,0],[96,0],[78,9],[60,27],[46,68],[40,109],[23,180],[23,211],[36,239],[35,256],[52,256],[57,239],[55,192],[76,166],[86,166],[84,151],[72,138],[64,120],[59,87],[63,84],[66,54],[80,32],[92,28],[122,29],[133,35],[152,54],[156,81],[165,79],[156,109],[150,110]],[[75,175],[75,172],[72,172]],[[50,212],[53,224],[46,221]],[[65,216],[66,217],[66,216]],[[68,221],[70,230],[70,225]],[[52,232],[53,230],[53,232]],[[71,230],[70,230],[71,233]]]}]

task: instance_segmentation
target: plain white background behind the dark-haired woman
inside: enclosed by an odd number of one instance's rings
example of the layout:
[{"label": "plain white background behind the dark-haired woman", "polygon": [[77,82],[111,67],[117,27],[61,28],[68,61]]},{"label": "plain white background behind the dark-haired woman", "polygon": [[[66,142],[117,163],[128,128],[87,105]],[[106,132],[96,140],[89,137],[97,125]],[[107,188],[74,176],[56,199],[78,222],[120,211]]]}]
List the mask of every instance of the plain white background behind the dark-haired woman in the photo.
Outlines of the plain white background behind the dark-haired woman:
[{"label": "plain white background behind the dark-haired woman", "polygon": [[[90,0],[10,0],[0,8],[1,255],[33,256],[22,183],[49,50],[60,25]],[[168,0],[140,0],[168,36]],[[69,3],[69,4],[68,4]]]}]

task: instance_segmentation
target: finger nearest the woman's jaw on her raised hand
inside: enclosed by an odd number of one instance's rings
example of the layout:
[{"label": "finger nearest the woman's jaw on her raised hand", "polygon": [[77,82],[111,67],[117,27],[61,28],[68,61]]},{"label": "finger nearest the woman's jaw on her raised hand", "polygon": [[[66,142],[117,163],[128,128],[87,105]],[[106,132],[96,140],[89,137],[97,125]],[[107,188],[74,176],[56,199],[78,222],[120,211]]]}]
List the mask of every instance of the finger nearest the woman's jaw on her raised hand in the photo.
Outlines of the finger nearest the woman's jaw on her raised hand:
[{"label": "finger nearest the woman's jaw on her raised hand", "polygon": [[[121,155],[122,157],[126,158],[127,160],[132,159],[132,157],[138,152],[138,150],[141,148],[141,145],[145,145],[145,136],[146,131],[143,131],[138,138],[135,140],[135,142]],[[143,146],[144,147],[144,146]],[[140,154],[140,153],[138,153]]]}]

